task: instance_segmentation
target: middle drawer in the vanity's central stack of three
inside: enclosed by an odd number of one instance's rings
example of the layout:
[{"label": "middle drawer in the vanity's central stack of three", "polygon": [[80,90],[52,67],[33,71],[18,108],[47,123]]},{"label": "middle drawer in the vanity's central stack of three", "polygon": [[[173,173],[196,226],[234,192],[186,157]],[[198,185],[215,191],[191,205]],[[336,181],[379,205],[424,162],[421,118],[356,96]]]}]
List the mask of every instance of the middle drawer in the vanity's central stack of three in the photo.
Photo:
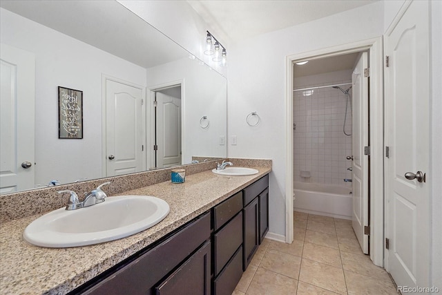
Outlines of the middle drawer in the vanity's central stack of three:
[{"label": "middle drawer in the vanity's central stack of three", "polygon": [[242,212],[213,235],[213,269],[215,276],[242,244]]}]

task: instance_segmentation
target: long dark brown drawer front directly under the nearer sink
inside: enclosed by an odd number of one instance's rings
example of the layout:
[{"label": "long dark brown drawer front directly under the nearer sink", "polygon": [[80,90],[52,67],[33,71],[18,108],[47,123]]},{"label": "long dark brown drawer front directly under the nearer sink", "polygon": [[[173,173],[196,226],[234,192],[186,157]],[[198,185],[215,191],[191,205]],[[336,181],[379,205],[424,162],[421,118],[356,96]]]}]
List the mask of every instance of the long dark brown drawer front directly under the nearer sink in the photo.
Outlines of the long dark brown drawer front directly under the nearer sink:
[{"label": "long dark brown drawer front directly under the nearer sink", "polygon": [[157,282],[209,239],[210,219],[206,213],[82,294],[153,294]]}]

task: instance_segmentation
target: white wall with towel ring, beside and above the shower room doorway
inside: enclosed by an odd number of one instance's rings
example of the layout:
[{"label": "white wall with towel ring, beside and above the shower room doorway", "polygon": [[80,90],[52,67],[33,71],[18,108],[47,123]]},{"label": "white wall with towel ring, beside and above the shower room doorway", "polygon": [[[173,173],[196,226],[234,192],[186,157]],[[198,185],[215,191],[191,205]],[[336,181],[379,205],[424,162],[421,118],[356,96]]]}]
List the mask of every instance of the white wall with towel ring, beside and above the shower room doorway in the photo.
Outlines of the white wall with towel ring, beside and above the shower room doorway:
[{"label": "white wall with towel ring, beside and above the shower room doorway", "polygon": [[[271,158],[270,229],[285,236],[285,57],[320,48],[378,37],[383,34],[381,1],[284,30],[244,39],[229,54],[229,135],[238,145],[228,146],[232,158]],[[261,123],[246,124],[257,111]]]}]

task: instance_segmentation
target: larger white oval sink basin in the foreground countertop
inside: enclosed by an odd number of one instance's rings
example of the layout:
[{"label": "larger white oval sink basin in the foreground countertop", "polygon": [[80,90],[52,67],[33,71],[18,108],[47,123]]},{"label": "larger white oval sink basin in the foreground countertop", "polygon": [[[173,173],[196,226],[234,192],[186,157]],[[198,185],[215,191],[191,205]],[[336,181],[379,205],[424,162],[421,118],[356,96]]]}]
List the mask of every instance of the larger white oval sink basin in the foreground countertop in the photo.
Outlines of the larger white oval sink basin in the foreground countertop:
[{"label": "larger white oval sink basin in the foreground countertop", "polygon": [[151,196],[117,196],[90,207],[60,208],[37,218],[23,238],[41,247],[78,247],[131,236],[169,214],[169,204]]}]

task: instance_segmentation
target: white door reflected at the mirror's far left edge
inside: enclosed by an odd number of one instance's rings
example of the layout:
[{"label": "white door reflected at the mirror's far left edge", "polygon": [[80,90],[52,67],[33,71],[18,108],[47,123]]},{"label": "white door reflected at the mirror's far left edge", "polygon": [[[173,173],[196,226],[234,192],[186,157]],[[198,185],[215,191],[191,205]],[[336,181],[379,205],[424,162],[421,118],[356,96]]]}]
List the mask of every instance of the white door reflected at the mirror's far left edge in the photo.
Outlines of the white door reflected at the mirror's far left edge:
[{"label": "white door reflected at the mirror's far left edge", "polygon": [[35,186],[35,56],[1,44],[0,193]]}]

